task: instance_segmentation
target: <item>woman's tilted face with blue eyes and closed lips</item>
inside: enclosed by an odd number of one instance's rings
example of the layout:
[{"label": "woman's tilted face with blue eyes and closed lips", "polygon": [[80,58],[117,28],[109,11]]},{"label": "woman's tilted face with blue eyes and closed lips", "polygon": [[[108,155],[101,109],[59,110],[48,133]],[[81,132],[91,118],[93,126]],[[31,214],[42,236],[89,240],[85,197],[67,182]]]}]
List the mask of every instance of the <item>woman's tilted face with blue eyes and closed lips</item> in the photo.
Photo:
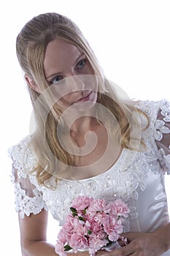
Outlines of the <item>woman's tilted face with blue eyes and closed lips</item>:
[{"label": "woman's tilted face with blue eyes and closed lips", "polygon": [[85,54],[63,39],[55,39],[45,52],[45,76],[62,108],[92,108],[97,100],[94,72]]}]

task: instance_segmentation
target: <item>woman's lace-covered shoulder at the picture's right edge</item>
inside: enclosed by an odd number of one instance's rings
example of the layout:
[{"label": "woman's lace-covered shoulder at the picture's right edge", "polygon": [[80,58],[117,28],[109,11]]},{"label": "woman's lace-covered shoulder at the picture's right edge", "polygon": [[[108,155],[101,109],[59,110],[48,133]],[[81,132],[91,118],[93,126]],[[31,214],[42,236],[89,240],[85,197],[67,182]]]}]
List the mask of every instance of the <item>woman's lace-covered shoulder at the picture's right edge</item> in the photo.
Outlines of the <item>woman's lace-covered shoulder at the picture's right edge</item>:
[{"label": "woman's lace-covered shoulder at the picture's right edge", "polygon": [[[170,174],[170,102],[167,99],[160,101],[143,101],[136,106],[147,114],[150,124],[142,131],[142,138],[147,145],[149,158],[160,162],[164,173]],[[157,164],[152,166],[157,168]]]}]

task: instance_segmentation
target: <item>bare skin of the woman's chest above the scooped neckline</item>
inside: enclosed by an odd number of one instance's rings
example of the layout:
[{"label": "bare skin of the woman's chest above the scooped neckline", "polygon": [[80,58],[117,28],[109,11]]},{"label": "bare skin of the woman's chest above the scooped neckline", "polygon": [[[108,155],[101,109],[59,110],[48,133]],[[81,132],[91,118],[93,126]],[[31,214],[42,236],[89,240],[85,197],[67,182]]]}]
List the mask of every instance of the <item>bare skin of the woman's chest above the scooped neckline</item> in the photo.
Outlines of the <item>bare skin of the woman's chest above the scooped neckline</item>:
[{"label": "bare skin of the woman's chest above the scooped neckline", "polygon": [[120,143],[102,127],[85,135],[74,137],[77,154],[74,155],[74,168],[66,178],[76,180],[90,178],[106,172],[120,156]]}]

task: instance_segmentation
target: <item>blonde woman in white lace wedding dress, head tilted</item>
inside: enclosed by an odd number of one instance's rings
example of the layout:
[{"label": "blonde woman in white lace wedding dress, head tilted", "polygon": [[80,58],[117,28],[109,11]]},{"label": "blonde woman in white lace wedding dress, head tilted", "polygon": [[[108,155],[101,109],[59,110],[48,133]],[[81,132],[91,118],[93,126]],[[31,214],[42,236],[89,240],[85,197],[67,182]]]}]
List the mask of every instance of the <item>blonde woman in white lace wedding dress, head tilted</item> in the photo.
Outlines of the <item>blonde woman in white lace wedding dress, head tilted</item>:
[{"label": "blonde woman in white lace wedding dress, head tilted", "polygon": [[120,198],[131,210],[128,244],[97,255],[170,255],[169,102],[128,99],[77,25],[57,13],[28,21],[16,45],[34,108],[30,135],[9,151],[22,255],[56,255],[47,211],[63,225],[78,195]]}]

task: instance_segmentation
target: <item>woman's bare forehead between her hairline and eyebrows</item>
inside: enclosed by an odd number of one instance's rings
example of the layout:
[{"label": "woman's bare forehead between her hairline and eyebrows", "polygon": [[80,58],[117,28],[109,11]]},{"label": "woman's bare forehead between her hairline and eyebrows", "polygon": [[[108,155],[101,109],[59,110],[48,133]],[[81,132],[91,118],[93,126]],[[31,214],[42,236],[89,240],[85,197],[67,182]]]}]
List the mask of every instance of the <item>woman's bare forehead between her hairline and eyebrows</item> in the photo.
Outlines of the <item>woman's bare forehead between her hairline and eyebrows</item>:
[{"label": "woman's bare forehead between her hairline and eyebrows", "polygon": [[63,72],[66,66],[74,64],[80,54],[80,50],[72,43],[60,38],[53,40],[47,45],[45,51],[45,75]]}]

